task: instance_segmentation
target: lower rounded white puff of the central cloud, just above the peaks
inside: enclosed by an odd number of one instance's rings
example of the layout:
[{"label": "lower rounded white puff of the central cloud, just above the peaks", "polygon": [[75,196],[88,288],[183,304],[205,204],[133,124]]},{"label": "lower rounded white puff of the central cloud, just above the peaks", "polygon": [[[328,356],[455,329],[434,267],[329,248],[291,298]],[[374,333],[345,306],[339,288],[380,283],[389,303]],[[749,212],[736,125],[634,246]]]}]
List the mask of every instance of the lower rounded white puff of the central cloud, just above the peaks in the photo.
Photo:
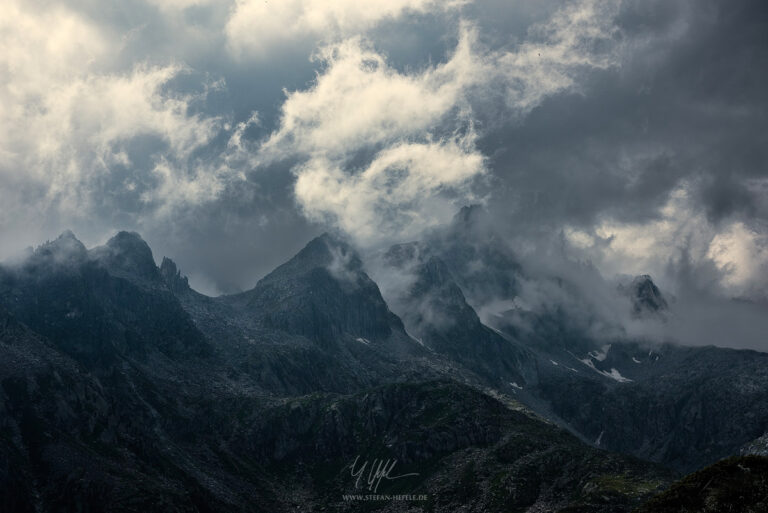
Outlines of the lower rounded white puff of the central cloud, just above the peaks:
[{"label": "lower rounded white puff of the central cloud, just above the peaks", "polygon": [[455,213],[451,195],[471,196],[484,172],[472,139],[401,143],[349,175],[324,157],[296,170],[295,192],[308,217],[338,225],[363,244],[409,238]]}]

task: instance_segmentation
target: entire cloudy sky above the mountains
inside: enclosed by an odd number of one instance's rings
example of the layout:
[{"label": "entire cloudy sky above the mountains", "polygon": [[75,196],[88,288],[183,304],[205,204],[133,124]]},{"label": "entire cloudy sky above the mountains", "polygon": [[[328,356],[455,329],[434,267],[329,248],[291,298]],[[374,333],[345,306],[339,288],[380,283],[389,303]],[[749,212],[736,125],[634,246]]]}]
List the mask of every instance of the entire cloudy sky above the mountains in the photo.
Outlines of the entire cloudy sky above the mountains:
[{"label": "entire cloudy sky above the mountains", "polygon": [[521,254],[768,296],[761,0],[0,0],[0,258],[138,231],[208,294],[482,204]]}]

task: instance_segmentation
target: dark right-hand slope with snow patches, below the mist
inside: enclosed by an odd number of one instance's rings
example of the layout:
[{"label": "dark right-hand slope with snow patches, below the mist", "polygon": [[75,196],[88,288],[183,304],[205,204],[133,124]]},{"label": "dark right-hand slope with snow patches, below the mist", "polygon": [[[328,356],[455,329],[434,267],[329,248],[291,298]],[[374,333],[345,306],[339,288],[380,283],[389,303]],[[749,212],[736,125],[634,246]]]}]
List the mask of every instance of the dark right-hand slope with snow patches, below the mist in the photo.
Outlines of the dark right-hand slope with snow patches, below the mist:
[{"label": "dark right-hand slope with snow patches, below the mist", "polygon": [[523,321],[495,325],[538,357],[521,399],[600,447],[690,472],[765,432],[766,353],[596,339],[556,314]]}]

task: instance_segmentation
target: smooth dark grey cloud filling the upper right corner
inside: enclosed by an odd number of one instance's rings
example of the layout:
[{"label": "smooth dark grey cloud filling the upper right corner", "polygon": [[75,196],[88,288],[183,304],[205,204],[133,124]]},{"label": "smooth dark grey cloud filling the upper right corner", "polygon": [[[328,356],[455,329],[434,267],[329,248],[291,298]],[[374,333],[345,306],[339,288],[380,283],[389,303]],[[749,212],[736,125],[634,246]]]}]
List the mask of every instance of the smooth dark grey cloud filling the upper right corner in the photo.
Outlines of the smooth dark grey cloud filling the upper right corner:
[{"label": "smooth dark grey cloud filling the upper right corner", "polygon": [[762,2],[627,3],[620,68],[485,142],[519,215],[642,221],[684,179],[713,219],[756,215],[745,182],[768,176],[767,11]]}]

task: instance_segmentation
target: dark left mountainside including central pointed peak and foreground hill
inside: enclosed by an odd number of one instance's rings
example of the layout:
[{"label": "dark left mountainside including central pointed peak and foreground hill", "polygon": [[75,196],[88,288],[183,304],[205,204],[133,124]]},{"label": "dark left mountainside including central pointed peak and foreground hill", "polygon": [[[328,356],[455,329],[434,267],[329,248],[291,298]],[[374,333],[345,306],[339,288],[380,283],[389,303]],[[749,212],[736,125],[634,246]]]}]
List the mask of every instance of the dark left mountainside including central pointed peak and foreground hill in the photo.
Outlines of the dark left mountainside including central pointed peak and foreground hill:
[{"label": "dark left mountainside including central pointed peak and foreground hill", "polygon": [[[356,455],[418,473],[390,490],[425,493],[415,506],[433,511],[470,499],[478,511],[627,511],[668,481],[450,379],[463,376],[405,333],[352,257],[335,277],[310,246],[312,258],[252,294],[212,299],[170,261],[148,265],[144,246],[126,234],[87,251],[65,235],[2,269],[4,508],[356,511],[342,499],[359,491]],[[318,301],[318,287],[330,297]],[[265,297],[290,311],[256,308]],[[265,321],[275,312],[287,323]],[[316,329],[296,332],[296,319]],[[312,393],[291,397],[302,388]],[[606,481],[615,473],[626,476],[618,490]]]}]

